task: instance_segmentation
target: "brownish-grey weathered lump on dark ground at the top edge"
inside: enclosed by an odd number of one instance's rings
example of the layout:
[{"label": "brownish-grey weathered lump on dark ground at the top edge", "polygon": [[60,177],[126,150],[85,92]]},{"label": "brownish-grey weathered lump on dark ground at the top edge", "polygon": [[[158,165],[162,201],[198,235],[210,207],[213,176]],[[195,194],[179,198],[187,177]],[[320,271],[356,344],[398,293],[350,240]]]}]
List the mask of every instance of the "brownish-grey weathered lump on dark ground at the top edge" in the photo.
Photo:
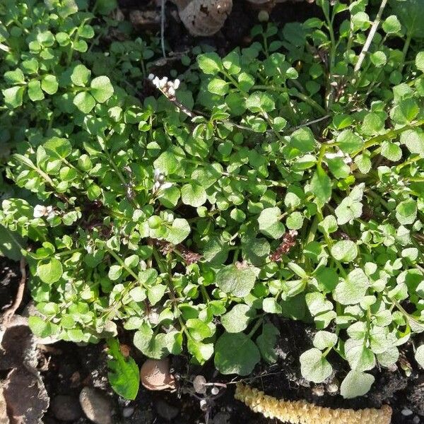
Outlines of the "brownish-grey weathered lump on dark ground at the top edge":
[{"label": "brownish-grey weathered lump on dark ground at the top edge", "polygon": [[232,0],[173,0],[179,18],[192,35],[218,33],[232,10]]}]

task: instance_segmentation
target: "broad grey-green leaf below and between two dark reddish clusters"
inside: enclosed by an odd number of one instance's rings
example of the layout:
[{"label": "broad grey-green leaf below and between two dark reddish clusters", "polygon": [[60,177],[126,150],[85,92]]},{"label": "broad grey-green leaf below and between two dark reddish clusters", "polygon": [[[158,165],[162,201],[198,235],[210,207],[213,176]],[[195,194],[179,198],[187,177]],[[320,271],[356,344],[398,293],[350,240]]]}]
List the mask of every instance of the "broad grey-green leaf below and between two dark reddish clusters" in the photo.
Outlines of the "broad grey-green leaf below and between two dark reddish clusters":
[{"label": "broad grey-green leaf below and between two dark reddish clusters", "polygon": [[245,264],[231,264],[221,268],[216,274],[216,285],[224,293],[243,298],[250,293],[257,279],[257,268]]}]

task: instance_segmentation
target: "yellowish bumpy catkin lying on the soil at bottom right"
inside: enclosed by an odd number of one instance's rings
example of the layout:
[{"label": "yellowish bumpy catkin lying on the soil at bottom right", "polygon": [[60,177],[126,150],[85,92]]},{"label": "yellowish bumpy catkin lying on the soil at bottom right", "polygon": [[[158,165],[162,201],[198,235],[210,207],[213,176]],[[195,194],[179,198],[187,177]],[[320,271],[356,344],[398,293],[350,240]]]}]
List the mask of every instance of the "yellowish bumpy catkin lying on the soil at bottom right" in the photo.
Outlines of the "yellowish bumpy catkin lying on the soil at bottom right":
[{"label": "yellowish bumpy catkin lying on the soil at bottom right", "polygon": [[266,418],[277,418],[290,424],[390,424],[391,408],[331,409],[307,401],[283,401],[242,383],[237,383],[235,399]]}]

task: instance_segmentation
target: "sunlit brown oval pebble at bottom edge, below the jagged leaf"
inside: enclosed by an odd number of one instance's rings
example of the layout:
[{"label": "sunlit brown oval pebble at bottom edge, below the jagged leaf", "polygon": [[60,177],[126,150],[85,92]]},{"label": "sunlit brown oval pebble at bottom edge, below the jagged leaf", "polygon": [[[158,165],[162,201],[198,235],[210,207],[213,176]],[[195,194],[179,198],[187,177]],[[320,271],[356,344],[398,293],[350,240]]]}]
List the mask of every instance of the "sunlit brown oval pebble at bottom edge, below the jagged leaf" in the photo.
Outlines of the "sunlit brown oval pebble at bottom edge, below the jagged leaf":
[{"label": "sunlit brown oval pebble at bottom edge, below the jagged leaf", "polygon": [[93,423],[112,424],[112,406],[109,399],[100,390],[84,387],[79,400],[87,418]]}]

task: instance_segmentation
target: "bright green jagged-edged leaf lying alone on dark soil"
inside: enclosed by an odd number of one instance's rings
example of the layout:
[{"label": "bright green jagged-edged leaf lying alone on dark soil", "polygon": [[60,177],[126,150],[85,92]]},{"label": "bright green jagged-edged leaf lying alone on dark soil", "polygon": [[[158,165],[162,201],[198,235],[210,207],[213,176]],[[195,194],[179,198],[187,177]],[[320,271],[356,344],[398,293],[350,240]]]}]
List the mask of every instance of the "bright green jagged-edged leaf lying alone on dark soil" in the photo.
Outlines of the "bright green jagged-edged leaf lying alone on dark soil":
[{"label": "bright green jagged-edged leaf lying alone on dark soil", "polygon": [[136,361],[131,356],[124,357],[119,341],[110,338],[107,341],[109,353],[113,359],[107,361],[110,372],[107,373],[112,389],[124,399],[134,400],[139,393],[140,374]]}]

